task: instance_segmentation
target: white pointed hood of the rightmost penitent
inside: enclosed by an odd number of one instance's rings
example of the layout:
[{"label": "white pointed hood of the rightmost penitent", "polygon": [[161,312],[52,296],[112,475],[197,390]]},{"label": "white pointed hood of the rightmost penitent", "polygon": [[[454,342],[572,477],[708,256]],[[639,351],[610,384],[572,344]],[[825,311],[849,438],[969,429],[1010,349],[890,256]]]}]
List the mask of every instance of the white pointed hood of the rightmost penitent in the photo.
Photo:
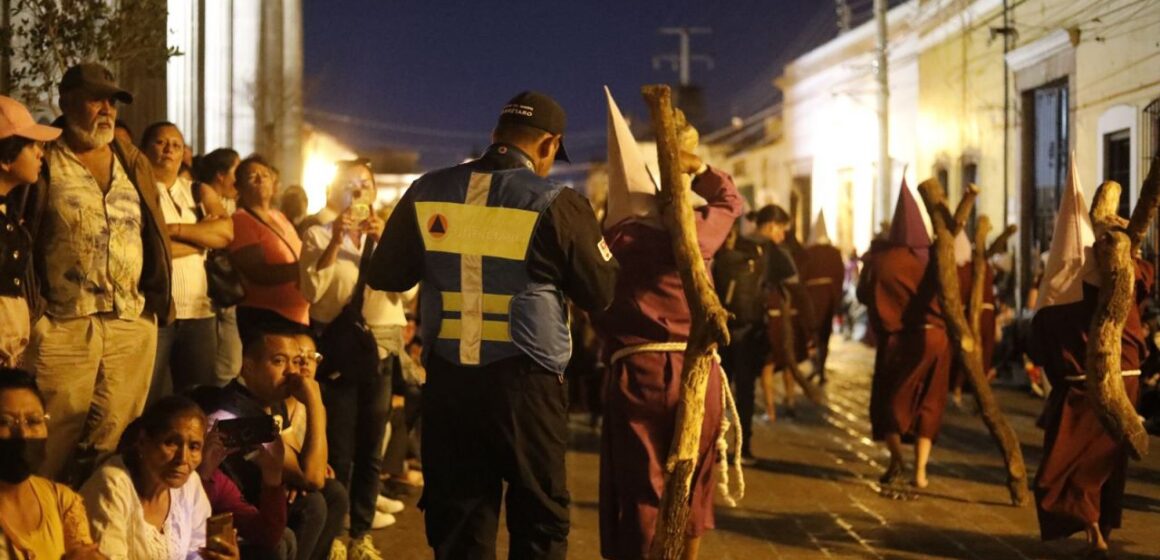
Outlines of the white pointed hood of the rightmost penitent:
[{"label": "white pointed hood of the rightmost penitent", "polygon": [[1083,299],[1083,282],[1099,282],[1095,259],[1092,257],[1093,243],[1095,233],[1092,231],[1092,218],[1088,216],[1083,191],[1080,190],[1075,158],[1072,158],[1064,199],[1056,214],[1047,264],[1043,270],[1043,281],[1039,282],[1038,308],[1080,301]]}]

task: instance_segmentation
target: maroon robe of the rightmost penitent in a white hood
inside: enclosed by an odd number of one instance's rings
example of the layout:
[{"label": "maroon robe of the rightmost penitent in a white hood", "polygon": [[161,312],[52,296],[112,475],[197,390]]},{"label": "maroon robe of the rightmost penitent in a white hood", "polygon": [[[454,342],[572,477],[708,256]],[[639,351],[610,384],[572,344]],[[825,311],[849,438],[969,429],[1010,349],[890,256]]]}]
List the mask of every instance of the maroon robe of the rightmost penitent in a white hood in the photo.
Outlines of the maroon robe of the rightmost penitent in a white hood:
[{"label": "maroon robe of the rightmost penitent in a white hood", "polygon": [[[1151,289],[1152,269],[1136,261],[1136,300]],[[1039,426],[1044,429],[1043,460],[1035,474],[1035,503],[1039,536],[1044,540],[1066,538],[1099,523],[1108,537],[1121,526],[1128,450],[1103,429],[1087,397],[1083,376],[1088,328],[1097,305],[1099,290],[1083,285],[1083,299],[1044,307],[1031,321],[1031,358],[1051,380]],[[1121,369],[1138,370],[1147,347],[1138,305],[1133,305],[1121,339]],[[1134,403],[1139,377],[1124,377],[1124,388]]]}]

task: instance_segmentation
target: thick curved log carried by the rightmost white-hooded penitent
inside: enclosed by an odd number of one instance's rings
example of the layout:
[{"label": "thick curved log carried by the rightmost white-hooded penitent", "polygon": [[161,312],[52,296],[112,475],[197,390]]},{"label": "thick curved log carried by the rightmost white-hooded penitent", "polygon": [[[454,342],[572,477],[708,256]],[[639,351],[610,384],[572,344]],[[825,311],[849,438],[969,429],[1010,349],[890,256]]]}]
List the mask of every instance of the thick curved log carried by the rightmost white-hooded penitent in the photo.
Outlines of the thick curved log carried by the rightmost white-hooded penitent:
[{"label": "thick curved log carried by the rightmost white-hooded penitent", "polygon": [[[1100,186],[1092,201],[1100,299],[1088,333],[1085,387],[1100,423],[1112,438],[1128,444],[1132,458],[1140,459],[1148,452],[1148,434],[1128,398],[1124,378],[1121,376],[1124,323],[1131,306],[1136,305],[1136,266],[1132,261],[1131,235],[1123,227],[1124,219],[1116,214],[1119,192],[1119,183],[1107,181]],[[1140,213],[1140,206],[1137,206],[1132,217]]]}]

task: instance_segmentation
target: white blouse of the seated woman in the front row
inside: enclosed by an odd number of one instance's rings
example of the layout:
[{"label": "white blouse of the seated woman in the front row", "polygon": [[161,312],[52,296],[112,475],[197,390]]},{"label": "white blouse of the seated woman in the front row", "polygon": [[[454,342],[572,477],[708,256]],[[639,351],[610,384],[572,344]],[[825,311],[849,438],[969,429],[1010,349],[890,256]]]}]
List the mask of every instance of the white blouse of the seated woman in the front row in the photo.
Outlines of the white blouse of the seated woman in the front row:
[{"label": "white blouse of the seated woman in the front row", "polygon": [[80,489],[93,540],[109,560],[194,560],[205,546],[205,519],[212,515],[202,479],[191,473],[169,490],[169,515],[158,530],[145,510],[121,456],[114,456]]}]

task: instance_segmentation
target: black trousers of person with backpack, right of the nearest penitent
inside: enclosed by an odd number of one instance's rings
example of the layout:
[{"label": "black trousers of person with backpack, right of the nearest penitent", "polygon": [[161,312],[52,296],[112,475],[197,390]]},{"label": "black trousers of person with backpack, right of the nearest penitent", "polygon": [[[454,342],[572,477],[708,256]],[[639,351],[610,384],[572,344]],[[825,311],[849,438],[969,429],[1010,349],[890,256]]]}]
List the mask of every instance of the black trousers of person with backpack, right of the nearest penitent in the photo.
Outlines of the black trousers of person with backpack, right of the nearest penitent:
[{"label": "black trousers of person with backpack, right of the nearest penitent", "polygon": [[769,336],[762,323],[731,325],[730,346],[722,349],[722,368],[733,385],[733,400],[741,421],[741,453],[751,454],[756,380],[769,354]]}]

